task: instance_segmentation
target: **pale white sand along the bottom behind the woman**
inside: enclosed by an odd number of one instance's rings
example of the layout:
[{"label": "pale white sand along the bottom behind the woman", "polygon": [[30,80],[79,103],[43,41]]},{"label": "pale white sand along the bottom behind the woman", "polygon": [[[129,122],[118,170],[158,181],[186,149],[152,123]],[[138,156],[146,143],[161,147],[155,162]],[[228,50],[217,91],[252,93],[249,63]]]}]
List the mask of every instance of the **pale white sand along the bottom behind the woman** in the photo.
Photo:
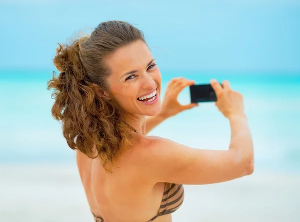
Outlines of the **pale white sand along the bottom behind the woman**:
[{"label": "pale white sand along the bottom behind the woman", "polygon": [[[1,222],[93,221],[75,165],[0,166]],[[300,174],[253,173],[236,180],[185,185],[172,214],[179,221],[300,220]]]}]

